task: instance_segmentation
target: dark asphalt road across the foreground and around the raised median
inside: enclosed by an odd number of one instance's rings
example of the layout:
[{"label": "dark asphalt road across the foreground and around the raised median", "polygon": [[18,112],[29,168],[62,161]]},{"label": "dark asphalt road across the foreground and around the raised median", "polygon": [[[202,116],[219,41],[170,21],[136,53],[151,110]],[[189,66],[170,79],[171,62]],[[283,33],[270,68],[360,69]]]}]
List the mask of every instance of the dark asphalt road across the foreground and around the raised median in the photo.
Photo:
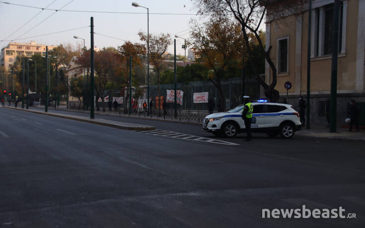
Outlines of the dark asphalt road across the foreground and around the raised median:
[{"label": "dark asphalt road across the foreground and around the raised median", "polygon": [[[0,108],[0,228],[364,227],[364,142],[242,137],[198,142]],[[262,218],[302,205],[357,218]]]}]

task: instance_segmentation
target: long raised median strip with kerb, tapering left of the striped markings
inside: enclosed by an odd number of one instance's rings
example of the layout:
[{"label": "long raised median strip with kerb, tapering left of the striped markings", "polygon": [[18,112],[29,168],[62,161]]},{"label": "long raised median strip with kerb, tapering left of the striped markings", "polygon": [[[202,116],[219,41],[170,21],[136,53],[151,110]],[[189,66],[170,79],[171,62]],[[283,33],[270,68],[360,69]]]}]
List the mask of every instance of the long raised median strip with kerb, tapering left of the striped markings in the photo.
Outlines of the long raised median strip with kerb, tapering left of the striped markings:
[{"label": "long raised median strip with kerb, tapering left of the striped markings", "polygon": [[154,126],[148,126],[148,125],[146,125],[146,127],[129,127],[129,126],[123,126],[123,125],[120,125],[120,124],[117,124],[117,123],[116,124],[103,123],[103,122],[96,121],[96,120],[91,120],[91,119],[77,118],[77,117],[73,117],[72,115],[62,116],[62,115],[57,115],[57,114],[54,114],[54,113],[24,110],[24,109],[18,109],[18,108],[13,108],[13,107],[4,107],[4,108],[15,109],[15,110],[23,111],[23,112],[31,112],[31,113],[46,115],[46,116],[53,116],[53,117],[58,117],[58,118],[63,118],[63,119],[75,120],[75,121],[80,121],[80,122],[85,122],[85,123],[90,123],[90,124],[96,124],[96,125],[101,125],[101,126],[107,126],[107,127],[112,127],[112,128],[118,128],[118,129],[123,129],[123,130],[133,130],[133,131],[155,130]]}]

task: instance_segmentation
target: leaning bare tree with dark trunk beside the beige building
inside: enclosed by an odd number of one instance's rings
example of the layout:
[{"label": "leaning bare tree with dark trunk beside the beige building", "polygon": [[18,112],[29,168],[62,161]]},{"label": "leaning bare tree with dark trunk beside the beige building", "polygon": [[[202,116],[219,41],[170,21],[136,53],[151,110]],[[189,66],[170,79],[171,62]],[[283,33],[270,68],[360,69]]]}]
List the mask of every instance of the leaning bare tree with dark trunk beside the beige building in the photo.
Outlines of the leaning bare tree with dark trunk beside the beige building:
[{"label": "leaning bare tree with dark trunk beside the beige building", "polygon": [[[304,0],[195,0],[195,5],[202,15],[212,14],[217,17],[226,15],[233,17],[241,24],[241,29],[246,47],[250,47],[250,33],[252,33],[259,44],[272,71],[273,80],[268,85],[259,76],[257,66],[254,64],[254,56],[251,48],[247,48],[247,57],[252,65],[256,80],[265,89],[265,96],[271,102],[279,100],[279,91],[275,89],[277,84],[277,69],[270,58],[272,46],[266,47],[260,38],[259,28],[265,17],[275,18],[287,15],[288,11],[293,12],[302,6]],[[268,10],[268,8],[270,10]]]}]

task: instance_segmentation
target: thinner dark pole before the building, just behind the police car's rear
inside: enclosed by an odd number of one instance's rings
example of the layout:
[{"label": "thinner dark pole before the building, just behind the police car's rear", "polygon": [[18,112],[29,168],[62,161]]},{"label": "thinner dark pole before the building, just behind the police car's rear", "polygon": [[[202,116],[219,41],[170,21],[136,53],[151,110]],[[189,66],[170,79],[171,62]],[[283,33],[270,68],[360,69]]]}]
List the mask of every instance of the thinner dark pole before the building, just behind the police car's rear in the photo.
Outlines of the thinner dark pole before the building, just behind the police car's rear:
[{"label": "thinner dark pole before the building, just behind the police car's rear", "polygon": [[308,47],[307,47],[307,126],[310,129],[310,32],[312,25],[312,0],[309,0],[308,9]]}]

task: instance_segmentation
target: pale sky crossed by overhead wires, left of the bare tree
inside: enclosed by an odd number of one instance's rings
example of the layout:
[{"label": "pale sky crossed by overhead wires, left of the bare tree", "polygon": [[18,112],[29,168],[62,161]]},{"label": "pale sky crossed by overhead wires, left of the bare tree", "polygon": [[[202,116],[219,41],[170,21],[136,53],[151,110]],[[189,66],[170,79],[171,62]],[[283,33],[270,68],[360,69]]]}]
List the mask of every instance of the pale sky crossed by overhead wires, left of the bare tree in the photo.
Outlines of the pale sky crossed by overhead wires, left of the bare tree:
[{"label": "pale sky crossed by overhead wires, left of the bare tree", "polygon": [[[192,18],[197,19],[198,16],[161,15],[153,13],[196,14],[196,9],[194,9],[191,0],[0,0],[0,40],[4,40],[5,38],[6,40],[18,39],[13,41],[18,43],[28,43],[34,40],[38,44],[44,45],[71,43],[73,45],[81,44],[82,46],[82,40],[73,38],[73,36],[76,35],[80,38],[84,38],[85,46],[90,48],[90,27],[80,27],[89,26],[90,17],[93,16],[95,33],[131,42],[142,43],[142,41],[139,40],[137,33],[140,31],[145,33],[147,32],[147,10],[142,7],[133,7],[133,1],[149,8],[150,34],[158,35],[160,33],[169,33],[171,35],[172,45],[170,45],[168,52],[173,54],[173,39],[175,34],[180,35],[183,38],[190,37],[189,21]],[[40,8],[45,8],[47,5],[53,2],[47,7],[49,9],[60,9],[71,2],[62,8],[62,10],[130,12],[144,14],[65,11],[58,11],[55,13],[54,10],[42,11],[41,9],[37,8],[5,4],[2,2],[35,6]],[[36,16],[36,14],[38,15]],[[49,18],[46,19],[47,17]],[[28,24],[19,29],[31,18],[33,19]],[[39,24],[44,19],[46,20]],[[75,28],[80,29],[52,35],[39,36]],[[15,32],[18,29],[19,31]],[[28,30],[30,31],[27,32]],[[15,33],[11,35],[13,32]],[[0,49],[5,47],[9,42],[11,41],[2,41],[0,43]],[[94,45],[98,48],[110,46],[117,48],[118,46],[122,45],[124,41],[95,34],[94,43]],[[176,39],[177,54],[184,55],[184,51],[181,49],[181,45],[183,43],[184,41],[182,39]]]}]

